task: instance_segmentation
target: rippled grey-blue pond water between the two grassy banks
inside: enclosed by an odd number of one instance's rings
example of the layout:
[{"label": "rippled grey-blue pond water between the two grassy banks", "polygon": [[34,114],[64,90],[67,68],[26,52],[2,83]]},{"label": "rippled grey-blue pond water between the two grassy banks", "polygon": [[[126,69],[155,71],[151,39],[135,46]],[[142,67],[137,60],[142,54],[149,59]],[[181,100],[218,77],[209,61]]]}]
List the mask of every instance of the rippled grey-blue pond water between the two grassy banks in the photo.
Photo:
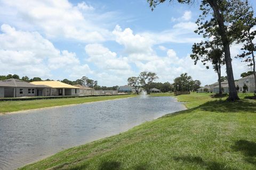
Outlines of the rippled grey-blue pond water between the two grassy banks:
[{"label": "rippled grey-blue pond water between the two grassy banks", "polygon": [[3,115],[0,169],[15,169],[183,109],[172,97],[134,97]]}]

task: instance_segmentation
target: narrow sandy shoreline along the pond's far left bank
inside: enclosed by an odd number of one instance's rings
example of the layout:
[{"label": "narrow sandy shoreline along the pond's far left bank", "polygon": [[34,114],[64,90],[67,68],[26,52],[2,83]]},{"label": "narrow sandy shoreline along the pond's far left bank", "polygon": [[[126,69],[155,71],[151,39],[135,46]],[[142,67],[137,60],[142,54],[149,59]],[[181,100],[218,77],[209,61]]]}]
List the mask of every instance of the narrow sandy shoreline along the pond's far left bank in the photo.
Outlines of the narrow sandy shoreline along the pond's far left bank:
[{"label": "narrow sandy shoreline along the pond's far left bank", "polygon": [[[134,96],[134,97],[136,97],[136,96]],[[89,102],[85,102],[85,103],[70,104],[70,105],[61,105],[61,106],[50,106],[50,107],[26,109],[26,110],[15,111],[15,112],[5,112],[5,113],[0,113],[0,116],[19,114],[19,113],[25,113],[25,112],[32,112],[32,111],[41,111],[41,110],[44,110],[44,109],[51,109],[51,108],[58,108],[58,107],[68,107],[68,106],[75,106],[75,105],[84,105],[84,104],[97,103],[97,102],[110,101],[110,100],[121,100],[121,99],[127,99],[127,98],[132,98],[132,97],[117,98],[117,99],[107,99],[107,100],[99,100],[99,101],[89,101]]]}]

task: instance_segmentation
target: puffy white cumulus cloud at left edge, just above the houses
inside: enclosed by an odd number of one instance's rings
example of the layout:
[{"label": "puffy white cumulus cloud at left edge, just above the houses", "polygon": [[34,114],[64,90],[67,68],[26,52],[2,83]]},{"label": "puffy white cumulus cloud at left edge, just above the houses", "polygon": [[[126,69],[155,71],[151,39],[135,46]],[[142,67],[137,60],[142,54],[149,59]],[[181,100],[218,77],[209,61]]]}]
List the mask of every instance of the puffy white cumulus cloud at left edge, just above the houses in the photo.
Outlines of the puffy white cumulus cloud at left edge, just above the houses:
[{"label": "puffy white cumulus cloud at left edge, just above the houses", "polygon": [[[29,77],[50,77],[51,71],[62,69],[76,71],[82,65],[75,53],[67,50],[60,52],[38,32],[20,31],[10,25],[1,25],[0,64],[2,74],[18,73]],[[76,72],[78,73],[78,72]],[[73,73],[75,74],[75,72]]]}]

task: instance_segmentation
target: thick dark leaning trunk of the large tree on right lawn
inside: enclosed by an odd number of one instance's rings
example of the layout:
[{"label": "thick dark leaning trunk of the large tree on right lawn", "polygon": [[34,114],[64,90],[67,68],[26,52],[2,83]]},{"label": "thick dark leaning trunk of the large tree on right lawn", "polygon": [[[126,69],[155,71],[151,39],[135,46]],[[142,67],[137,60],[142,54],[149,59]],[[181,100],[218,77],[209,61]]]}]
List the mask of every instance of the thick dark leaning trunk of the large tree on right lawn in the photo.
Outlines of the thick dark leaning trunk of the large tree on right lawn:
[{"label": "thick dark leaning trunk of the large tree on right lawn", "polygon": [[207,0],[207,2],[211,5],[214,11],[215,18],[217,19],[217,22],[220,28],[221,41],[222,41],[224,52],[225,52],[225,62],[226,62],[226,69],[227,69],[227,76],[228,76],[228,89],[229,89],[229,96],[227,100],[230,100],[230,101],[239,100],[239,97],[236,91],[236,86],[235,86],[235,80],[234,80],[231,57],[230,57],[229,41],[227,37],[227,31],[224,25],[224,20],[222,15],[220,14],[217,1]]}]

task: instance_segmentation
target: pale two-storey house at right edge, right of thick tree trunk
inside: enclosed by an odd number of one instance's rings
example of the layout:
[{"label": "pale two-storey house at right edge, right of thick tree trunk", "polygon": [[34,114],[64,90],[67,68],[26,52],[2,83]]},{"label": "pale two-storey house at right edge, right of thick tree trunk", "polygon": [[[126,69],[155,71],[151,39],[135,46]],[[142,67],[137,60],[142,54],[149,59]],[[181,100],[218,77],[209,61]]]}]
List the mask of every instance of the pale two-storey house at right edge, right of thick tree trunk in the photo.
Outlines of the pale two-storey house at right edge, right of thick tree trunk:
[{"label": "pale two-storey house at right edge, right of thick tree trunk", "polygon": [[243,92],[244,84],[248,87],[247,92],[254,92],[255,90],[254,75],[248,75],[244,78],[238,79],[239,92]]}]

